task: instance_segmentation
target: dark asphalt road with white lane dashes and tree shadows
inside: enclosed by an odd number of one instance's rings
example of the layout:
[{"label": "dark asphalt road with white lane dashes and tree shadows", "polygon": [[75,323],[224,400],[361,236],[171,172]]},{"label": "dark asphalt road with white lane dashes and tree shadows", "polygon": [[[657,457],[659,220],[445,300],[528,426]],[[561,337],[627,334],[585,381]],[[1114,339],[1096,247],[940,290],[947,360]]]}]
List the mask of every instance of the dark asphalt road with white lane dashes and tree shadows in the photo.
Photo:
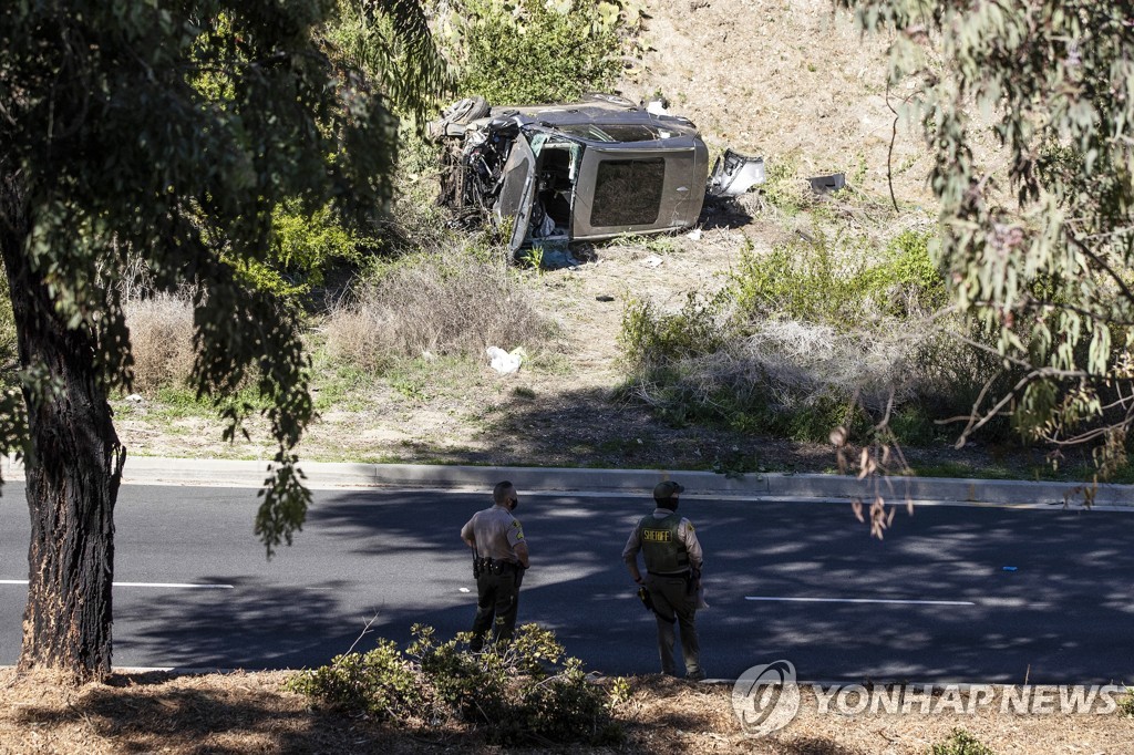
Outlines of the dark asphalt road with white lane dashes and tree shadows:
[{"label": "dark asphalt road with white lane dashes and tree shadows", "polygon": [[[521,493],[533,563],[521,621],[553,629],[589,668],[658,670],[653,619],[620,561],[651,503]],[[11,664],[28,524],[23,484],[0,494],[0,664]],[[122,486],[115,664],[299,668],[379,636],[405,642],[417,622],[468,628],[475,585],[458,531],[486,494],[314,497],[295,544],[268,561],[254,490]],[[685,497],[680,511],[705,549],[710,677],[786,659],[803,680],[1134,682],[1132,512],[920,507],[879,542],[845,503]]]}]

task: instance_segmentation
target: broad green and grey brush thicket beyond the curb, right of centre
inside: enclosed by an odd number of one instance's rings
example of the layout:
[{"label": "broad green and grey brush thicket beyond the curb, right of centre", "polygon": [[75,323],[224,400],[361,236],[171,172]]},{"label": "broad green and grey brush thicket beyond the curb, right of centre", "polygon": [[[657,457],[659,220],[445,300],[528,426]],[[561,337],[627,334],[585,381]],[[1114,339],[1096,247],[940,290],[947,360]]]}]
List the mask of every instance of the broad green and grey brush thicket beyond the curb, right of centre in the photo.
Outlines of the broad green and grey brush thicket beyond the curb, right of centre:
[{"label": "broad green and grey brush thicket beyond the curb, right of centre", "polygon": [[[987,381],[1013,374],[998,373],[995,351],[959,346],[941,324],[976,342],[988,340],[982,331],[931,317],[947,291],[930,240],[907,230],[881,245],[838,241],[814,228],[768,254],[744,248],[712,300],[691,295],[674,314],[632,300],[619,334],[629,373],[623,396],[677,425],[815,442],[845,425],[863,442],[938,440],[934,421],[966,417]],[[995,421],[982,434],[1008,432]]]}]

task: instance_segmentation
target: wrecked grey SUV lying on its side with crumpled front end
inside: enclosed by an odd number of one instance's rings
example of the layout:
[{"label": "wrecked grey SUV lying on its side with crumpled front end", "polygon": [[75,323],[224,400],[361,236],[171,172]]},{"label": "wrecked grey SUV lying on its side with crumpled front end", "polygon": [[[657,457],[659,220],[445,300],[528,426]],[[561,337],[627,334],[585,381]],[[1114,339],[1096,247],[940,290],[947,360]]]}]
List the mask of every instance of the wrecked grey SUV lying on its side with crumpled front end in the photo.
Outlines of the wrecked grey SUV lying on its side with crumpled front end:
[{"label": "wrecked grey SUV lying on its side with crumpled front end", "polygon": [[692,122],[615,95],[514,108],[468,97],[429,130],[446,146],[440,204],[469,222],[511,220],[513,252],[688,228],[706,192],[737,195],[764,178],[762,159],[731,151],[710,176]]}]

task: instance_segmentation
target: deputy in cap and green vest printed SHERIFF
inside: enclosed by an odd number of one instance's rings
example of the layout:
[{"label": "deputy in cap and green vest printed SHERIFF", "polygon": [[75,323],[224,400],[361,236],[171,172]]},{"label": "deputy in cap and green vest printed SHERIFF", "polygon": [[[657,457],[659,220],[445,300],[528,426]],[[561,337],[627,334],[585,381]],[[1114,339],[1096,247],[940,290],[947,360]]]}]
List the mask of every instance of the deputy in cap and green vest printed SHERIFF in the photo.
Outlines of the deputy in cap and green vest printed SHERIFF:
[{"label": "deputy in cap and green vest printed SHERIFF", "polygon": [[[626,541],[623,560],[638,585],[645,585],[658,619],[658,652],[662,673],[676,676],[674,667],[674,625],[682,630],[682,656],[685,678],[700,681],[701,648],[694,623],[697,589],[701,586],[701,543],[693,524],[676,514],[678,495],[685,487],[672,481],[653,489],[657,508],[638,521]],[[638,571],[638,551],[645,561],[646,577]]]}]

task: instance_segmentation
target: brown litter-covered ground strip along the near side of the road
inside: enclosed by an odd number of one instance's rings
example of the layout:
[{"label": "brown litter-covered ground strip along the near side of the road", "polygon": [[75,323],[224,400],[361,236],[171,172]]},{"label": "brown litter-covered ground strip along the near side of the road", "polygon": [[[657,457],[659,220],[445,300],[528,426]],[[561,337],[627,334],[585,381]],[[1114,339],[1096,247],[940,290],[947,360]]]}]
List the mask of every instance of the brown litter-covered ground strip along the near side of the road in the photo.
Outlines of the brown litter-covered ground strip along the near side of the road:
[{"label": "brown litter-covered ground strip along the near side of the road", "polygon": [[[311,707],[284,692],[289,672],[171,677],[117,675],[78,689],[0,672],[0,753],[426,753],[505,752],[459,722],[399,729],[366,716]],[[750,738],[728,685],[665,677],[632,679],[618,709],[627,738],[618,747],[553,752],[924,755],[964,728],[999,755],[1119,754],[1134,748],[1134,719],[1107,715],[985,713],[820,714],[802,693],[799,714],[772,736]],[[507,752],[540,752],[510,748]]]}]

